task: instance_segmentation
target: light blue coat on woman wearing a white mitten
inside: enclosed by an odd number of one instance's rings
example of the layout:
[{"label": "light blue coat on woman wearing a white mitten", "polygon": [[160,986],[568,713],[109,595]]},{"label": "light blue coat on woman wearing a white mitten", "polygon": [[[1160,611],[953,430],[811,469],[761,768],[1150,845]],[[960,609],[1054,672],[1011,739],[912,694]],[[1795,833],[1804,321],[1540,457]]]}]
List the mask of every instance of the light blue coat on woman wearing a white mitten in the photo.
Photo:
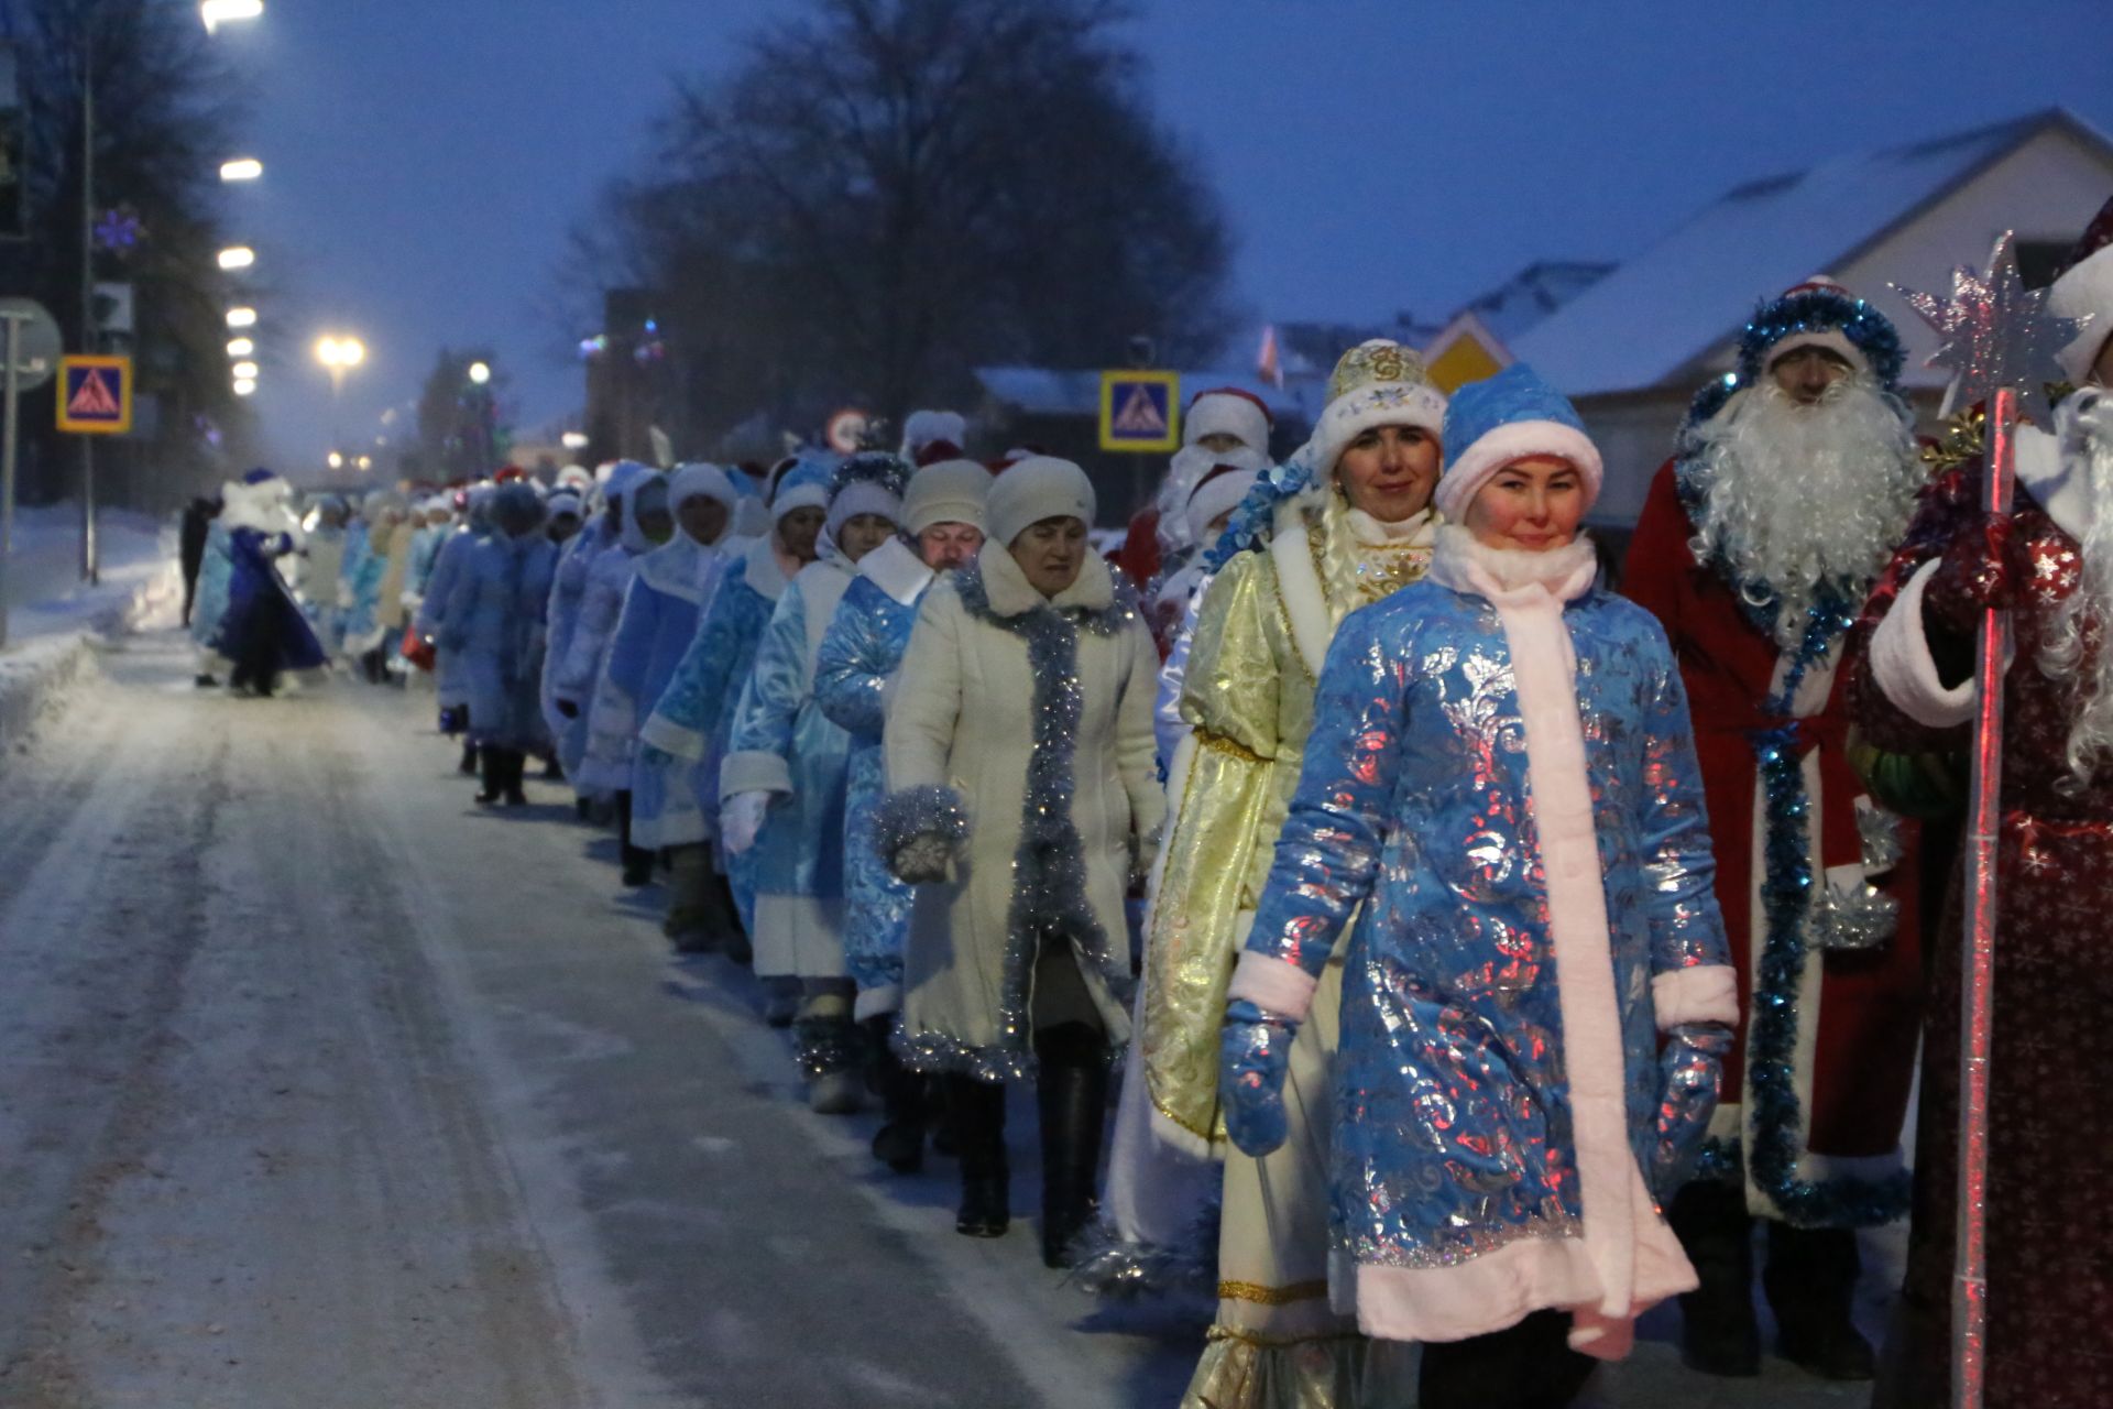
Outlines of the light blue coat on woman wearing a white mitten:
[{"label": "light blue coat on woman wearing a white mitten", "polygon": [[852,735],[814,699],[814,661],[852,585],[841,558],[809,562],[778,598],[718,765],[718,796],[773,792],[763,832],[735,866],[759,896],[843,896],[843,805]]}]

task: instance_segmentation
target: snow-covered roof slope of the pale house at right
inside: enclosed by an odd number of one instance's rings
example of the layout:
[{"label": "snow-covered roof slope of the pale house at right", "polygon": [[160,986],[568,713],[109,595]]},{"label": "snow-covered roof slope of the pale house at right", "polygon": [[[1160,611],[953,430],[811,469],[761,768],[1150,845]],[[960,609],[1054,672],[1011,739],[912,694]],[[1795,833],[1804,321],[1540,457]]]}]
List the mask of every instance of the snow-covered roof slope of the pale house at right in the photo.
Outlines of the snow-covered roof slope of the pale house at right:
[{"label": "snow-covered roof slope of the pale house at right", "polygon": [[1665,384],[1733,338],[1756,298],[1845,266],[2058,125],[2105,146],[2050,108],[1737,186],[1519,334],[1511,351],[1570,395]]}]

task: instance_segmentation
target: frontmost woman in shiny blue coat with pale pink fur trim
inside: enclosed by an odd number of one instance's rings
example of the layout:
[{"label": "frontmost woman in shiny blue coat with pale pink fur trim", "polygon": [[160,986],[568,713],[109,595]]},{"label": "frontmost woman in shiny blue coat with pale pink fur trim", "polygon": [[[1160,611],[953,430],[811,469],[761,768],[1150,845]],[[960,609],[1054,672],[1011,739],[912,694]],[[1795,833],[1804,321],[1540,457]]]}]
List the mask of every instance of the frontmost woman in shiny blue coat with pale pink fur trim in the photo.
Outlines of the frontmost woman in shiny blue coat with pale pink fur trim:
[{"label": "frontmost woman in shiny blue coat with pale pink fur trim", "polygon": [[1424,1344],[1424,1409],[1564,1405],[1695,1286],[1680,1187],[1737,1018],[1680,672],[1597,587],[1600,454],[1526,365],[1445,414],[1431,577],[1344,621],[1226,1010],[1228,1130],[1357,915],[1331,1289]]}]

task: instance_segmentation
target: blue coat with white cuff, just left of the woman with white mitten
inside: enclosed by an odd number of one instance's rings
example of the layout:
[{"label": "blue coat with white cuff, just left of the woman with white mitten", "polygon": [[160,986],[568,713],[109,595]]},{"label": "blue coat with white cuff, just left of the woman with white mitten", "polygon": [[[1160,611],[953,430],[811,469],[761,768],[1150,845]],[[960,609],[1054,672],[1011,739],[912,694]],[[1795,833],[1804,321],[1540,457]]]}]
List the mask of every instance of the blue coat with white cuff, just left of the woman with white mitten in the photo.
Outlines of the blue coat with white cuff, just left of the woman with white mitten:
[{"label": "blue coat with white cuff, just left of the woman with white mitten", "polygon": [[[676,661],[668,689],[653,714],[638,729],[638,741],[668,754],[704,765],[706,779],[718,779],[718,763],[733,731],[733,710],[756,661],[763,627],[769,625],[778,598],[786,587],[784,568],[771,549],[771,539],[750,539],[727,564],[710,606],[697,623],[697,636]],[[716,809],[718,792],[708,788],[706,815]],[[752,853],[752,851],[750,851]],[[754,877],[748,866],[727,866],[742,923],[754,925]]]}]

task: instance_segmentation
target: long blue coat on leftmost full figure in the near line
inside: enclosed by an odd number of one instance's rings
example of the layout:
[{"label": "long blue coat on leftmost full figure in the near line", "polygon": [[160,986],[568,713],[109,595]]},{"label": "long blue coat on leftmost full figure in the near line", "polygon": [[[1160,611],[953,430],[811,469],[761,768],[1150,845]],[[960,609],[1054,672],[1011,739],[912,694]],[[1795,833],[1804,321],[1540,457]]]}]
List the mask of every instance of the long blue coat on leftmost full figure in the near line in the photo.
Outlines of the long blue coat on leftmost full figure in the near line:
[{"label": "long blue coat on leftmost full figure in the near line", "polygon": [[471,541],[433,634],[452,657],[478,744],[543,748],[543,602],[558,549],[541,528]]}]

